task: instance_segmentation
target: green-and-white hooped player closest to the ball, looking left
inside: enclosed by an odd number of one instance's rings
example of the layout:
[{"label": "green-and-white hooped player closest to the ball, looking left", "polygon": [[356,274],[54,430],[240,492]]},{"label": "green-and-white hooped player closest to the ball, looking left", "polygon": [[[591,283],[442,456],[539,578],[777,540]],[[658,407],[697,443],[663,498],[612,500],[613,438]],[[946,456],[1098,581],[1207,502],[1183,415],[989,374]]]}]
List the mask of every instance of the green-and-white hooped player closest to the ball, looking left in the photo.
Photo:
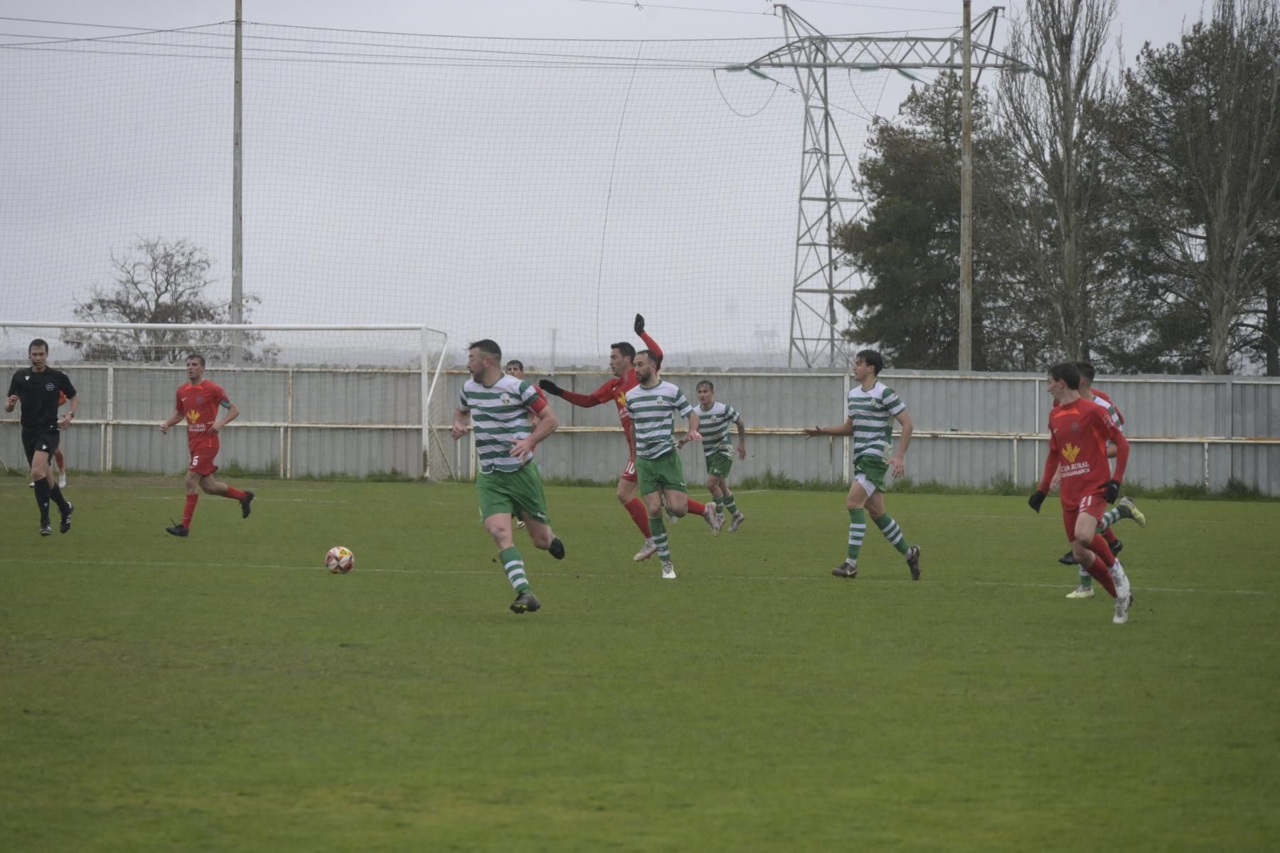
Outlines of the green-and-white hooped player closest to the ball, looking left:
[{"label": "green-and-white hooped player closest to the ball, looking left", "polygon": [[503,375],[502,348],[488,338],[467,347],[467,370],[471,378],[462,383],[458,409],[453,412],[453,438],[467,434],[468,420],[475,424],[480,519],[497,543],[503,571],[516,590],[512,612],[534,612],[541,602],[529,585],[511,520],[518,515],[535,547],[549,551],[557,560],[564,558],[564,543],[552,533],[543,480],[534,462],[534,448],[556,432],[556,412],[531,384]]}]

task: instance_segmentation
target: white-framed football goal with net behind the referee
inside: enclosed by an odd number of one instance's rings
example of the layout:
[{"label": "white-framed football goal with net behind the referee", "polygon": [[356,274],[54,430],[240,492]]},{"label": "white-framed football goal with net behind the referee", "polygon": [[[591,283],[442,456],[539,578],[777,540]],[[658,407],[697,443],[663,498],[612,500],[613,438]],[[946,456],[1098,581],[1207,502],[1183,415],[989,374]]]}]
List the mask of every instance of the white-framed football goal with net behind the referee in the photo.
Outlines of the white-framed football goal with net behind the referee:
[{"label": "white-framed football goal with net behind the referee", "polygon": [[[47,341],[50,365],[65,369],[79,391],[77,425],[97,433],[97,447],[79,446],[72,467],[180,466],[182,444],[155,426],[173,412],[187,356],[198,352],[209,378],[243,412],[234,426],[244,437],[224,451],[224,465],[282,478],[453,475],[436,435],[448,419],[448,336],[425,324],[0,319],[0,366],[26,365],[36,338]],[[0,425],[17,425],[17,418]],[[17,429],[0,429],[0,459],[20,456],[18,442]]]}]

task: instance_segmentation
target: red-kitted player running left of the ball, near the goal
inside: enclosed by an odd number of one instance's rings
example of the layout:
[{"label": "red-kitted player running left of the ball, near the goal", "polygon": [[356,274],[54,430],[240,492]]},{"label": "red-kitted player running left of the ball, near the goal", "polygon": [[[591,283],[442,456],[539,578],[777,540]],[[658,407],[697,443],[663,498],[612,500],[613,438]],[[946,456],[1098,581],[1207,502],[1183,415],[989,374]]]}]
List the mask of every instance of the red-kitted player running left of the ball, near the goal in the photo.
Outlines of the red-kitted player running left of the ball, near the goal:
[{"label": "red-kitted player running left of the ball, near the goal", "polygon": [[[218,419],[220,410],[225,410],[221,420]],[[165,528],[173,535],[184,537],[191,533],[191,516],[196,514],[196,502],[200,500],[200,491],[196,487],[205,494],[220,494],[239,501],[241,517],[248,517],[253,493],[242,492],[214,479],[214,471],[218,470],[214,465],[218,457],[218,433],[238,415],[239,409],[227,392],[205,379],[205,356],[197,353],[187,356],[187,384],[178,388],[173,416],[160,424],[160,432],[168,433],[178,421],[187,421],[187,450],[191,451],[191,466],[187,469],[186,480],[187,507],[182,512],[182,524]]]}]

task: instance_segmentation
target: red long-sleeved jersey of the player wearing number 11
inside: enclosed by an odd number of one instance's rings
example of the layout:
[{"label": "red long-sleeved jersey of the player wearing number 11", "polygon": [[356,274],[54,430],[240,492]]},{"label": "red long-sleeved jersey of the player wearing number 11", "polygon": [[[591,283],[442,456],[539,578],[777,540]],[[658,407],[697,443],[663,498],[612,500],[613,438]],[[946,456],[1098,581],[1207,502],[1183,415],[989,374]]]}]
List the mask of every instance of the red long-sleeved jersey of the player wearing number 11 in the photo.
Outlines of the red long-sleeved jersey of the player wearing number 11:
[{"label": "red long-sleeved jersey of the player wearing number 11", "polygon": [[1112,479],[1107,460],[1107,442],[1116,446],[1116,480],[1124,479],[1129,462],[1129,442],[1107,412],[1093,402],[1079,398],[1048,412],[1048,456],[1039,489],[1048,492],[1053,471],[1061,466],[1059,494],[1062,506],[1078,506],[1080,498],[1101,492]]}]

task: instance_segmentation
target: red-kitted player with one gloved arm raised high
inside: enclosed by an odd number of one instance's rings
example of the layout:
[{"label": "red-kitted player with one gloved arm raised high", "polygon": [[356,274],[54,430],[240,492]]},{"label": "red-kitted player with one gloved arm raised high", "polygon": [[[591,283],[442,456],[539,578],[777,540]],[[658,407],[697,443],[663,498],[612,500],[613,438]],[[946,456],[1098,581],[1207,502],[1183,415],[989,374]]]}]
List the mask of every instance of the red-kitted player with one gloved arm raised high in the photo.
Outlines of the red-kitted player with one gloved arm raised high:
[{"label": "red-kitted player with one gloved arm raised high", "polygon": [[[662,365],[662,350],[658,347],[658,342],[645,334],[644,330],[644,318],[636,314],[635,321],[636,334],[645,342],[649,352],[653,356],[655,365]],[[636,478],[636,437],[635,429],[631,425],[631,414],[627,411],[627,392],[640,384],[636,379],[635,368],[631,366],[632,359],[635,359],[636,348],[627,342],[609,345],[609,371],[613,373],[613,378],[605,382],[603,386],[596,388],[589,394],[580,394],[573,391],[566,391],[557,386],[550,379],[543,379],[539,382],[539,387],[543,388],[549,394],[556,394],[562,397],[575,406],[581,406],[584,409],[590,409],[593,406],[599,406],[600,403],[613,402],[618,407],[618,420],[622,423],[622,433],[627,437],[627,464],[622,469],[622,475],[618,478],[618,502],[626,508],[631,515],[631,520],[635,521],[640,533],[644,534],[644,547],[640,552],[632,557],[636,561],[648,560],[658,551],[658,546],[653,542],[653,535],[649,530],[649,512],[644,507],[644,502],[636,497],[637,492],[637,478]],[[698,512],[703,516],[703,520],[710,525],[712,533],[719,533],[721,520],[716,515],[716,505],[707,505],[699,501],[689,501],[689,511]]]}]

